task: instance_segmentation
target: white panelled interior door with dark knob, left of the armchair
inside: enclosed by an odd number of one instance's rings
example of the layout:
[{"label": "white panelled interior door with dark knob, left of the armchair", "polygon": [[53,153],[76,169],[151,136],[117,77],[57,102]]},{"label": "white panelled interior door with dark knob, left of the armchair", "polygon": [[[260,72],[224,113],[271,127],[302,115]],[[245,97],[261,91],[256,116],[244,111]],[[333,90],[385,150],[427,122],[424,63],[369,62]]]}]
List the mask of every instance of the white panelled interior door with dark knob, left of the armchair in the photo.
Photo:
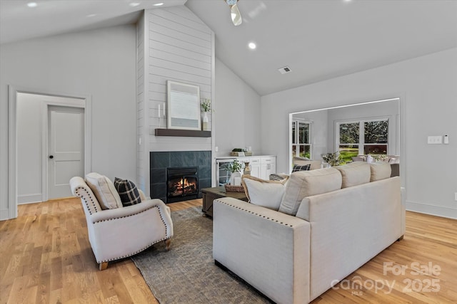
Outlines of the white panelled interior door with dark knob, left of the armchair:
[{"label": "white panelled interior door with dark knob, left of the armchair", "polygon": [[84,176],[84,109],[48,107],[48,199],[71,196],[71,177]]}]

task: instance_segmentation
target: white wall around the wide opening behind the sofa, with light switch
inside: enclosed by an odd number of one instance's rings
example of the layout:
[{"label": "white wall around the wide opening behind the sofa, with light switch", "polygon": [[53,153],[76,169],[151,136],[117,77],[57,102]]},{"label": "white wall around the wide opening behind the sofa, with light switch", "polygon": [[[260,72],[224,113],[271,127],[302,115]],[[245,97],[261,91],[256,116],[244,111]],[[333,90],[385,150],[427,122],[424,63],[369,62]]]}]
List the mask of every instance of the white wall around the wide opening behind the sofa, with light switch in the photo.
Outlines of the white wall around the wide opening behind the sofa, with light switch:
[{"label": "white wall around the wide opening behind the sofa, with light switch", "polygon": [[[278,172],[286,170],[289,112],[400,97],[407,207],[457,219],[456,83],[457,48],[453,48],[263,96],[263,152],[277,154]],[[428,135],[445,134],[449,145],[427,145]]]}]

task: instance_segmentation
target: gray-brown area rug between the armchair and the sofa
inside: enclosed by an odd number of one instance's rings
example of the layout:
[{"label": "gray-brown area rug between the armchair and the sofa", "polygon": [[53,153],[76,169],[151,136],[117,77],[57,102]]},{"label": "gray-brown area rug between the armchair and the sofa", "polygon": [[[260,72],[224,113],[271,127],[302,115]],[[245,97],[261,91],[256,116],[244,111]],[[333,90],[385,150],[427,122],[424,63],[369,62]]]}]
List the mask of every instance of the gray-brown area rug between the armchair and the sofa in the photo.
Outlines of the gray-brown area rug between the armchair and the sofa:
[{"label": "gray-brown area rug between the armchair and the sofa", "polygon": [[271,303],[229,271],[214,264],[213,221],[201,207],[171,212],[174,237],[133,256],[159,303]]}]

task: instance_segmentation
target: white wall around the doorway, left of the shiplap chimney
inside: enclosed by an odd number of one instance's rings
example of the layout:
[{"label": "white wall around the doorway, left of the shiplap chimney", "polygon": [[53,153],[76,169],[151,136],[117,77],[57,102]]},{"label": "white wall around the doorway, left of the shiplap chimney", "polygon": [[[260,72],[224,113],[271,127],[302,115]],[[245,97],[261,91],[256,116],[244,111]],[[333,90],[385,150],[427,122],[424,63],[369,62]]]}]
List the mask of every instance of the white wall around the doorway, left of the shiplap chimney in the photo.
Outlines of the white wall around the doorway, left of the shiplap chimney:
[{"label": "white wall around the doorway, left of the shiplap chimney", "polygon": [[136,179],[135,38],[126,25],[0,46],[0,219],[8,209],[8,85],[91,96],[92,170]]}]

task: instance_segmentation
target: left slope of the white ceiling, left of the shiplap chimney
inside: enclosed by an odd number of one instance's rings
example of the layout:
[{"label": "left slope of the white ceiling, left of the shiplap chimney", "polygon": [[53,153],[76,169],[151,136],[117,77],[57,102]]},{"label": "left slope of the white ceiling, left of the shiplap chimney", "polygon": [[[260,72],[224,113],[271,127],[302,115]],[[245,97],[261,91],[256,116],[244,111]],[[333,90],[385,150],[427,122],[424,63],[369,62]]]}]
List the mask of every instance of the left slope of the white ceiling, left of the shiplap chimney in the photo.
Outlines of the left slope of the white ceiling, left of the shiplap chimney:
[{"label": "left slope of the white ceiling, left of the shiplap chimney", "polygon": [[[32,1],[37,6],[29,8]],[[134,2],[139,5],[129,5]],[[0,0],[0,43],[135,23],[143,9],[157,3],[166,7],[186,0]]]}]

